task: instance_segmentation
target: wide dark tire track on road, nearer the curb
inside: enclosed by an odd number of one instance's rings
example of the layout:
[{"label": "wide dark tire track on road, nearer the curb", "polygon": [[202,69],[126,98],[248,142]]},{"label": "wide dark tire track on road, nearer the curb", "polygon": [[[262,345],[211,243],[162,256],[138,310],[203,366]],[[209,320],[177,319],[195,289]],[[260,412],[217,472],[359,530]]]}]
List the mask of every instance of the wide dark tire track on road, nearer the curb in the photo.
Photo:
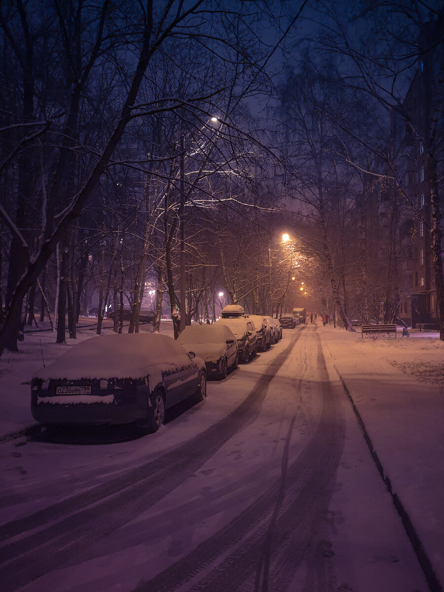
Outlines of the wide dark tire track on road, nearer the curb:
[{"label": "wide dark tire track on road, nearer the curb", "polygon": [[[133,592],[288,590],[310,548],[316,523],[323,518],[343,448],[345,420],[330,387],[317,335],[316,339],[323,406],[308,445],[288,468],[286,445],[281,480],[215,535]],[[287,443],[291,430],[292,426]]]}]

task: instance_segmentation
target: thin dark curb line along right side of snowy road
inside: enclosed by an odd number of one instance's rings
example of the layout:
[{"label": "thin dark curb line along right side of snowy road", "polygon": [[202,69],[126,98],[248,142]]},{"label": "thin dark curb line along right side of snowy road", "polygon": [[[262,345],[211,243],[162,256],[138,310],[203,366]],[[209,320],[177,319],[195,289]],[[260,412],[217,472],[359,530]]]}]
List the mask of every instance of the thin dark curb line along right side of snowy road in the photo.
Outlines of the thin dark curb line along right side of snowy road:
[{"label": "thin dark curb line along right side of snowy road", "polygon": [[410,516],[408,516],[407,510],[404,508],[403,504],[401,503],[400,498],[396,493],[394,493],[391,485],[390,478],[384,471],[384,467],[382,466],[381,460],[379,459],[378,453],[375,451],[374,445],[372,440],[367,432],[365,427],[365,423],[362,420],[361,414],[358,411],[358,408],[355,405],[355,401],[353,401],[352,395],[347,388],[347,385],[344,382],[344,379],[340,375],[339,370],[336,368],[336,364],[333,364],[333,368],[336,370],[337,375],[339,376],[340,381],[342,382],[342,386],[346,392],[346,395],[350,401],[352,406],[353,412],[355,413],[356,418],[358,419],[359,426],[361,426],[362,433],[365,439],[365,442],[368,446],[368,449],[372,455],[373,460],[375,461],[375,465],[381,475],[382,481],[385,483],[385,487],[387,487],[388,493],[390,493],[392,497],[393,504],[395,509],[398,513],[398,516],[401,518],[403,523],[404,529],[406,530],[407,536],[410,539],[410,542],[413,546],[413,550],[417,556],[419,564],[423,570],[424,576],[426,577],[427,584],[429,584],[430,592],[443,592],[442,585],[438,580],[435,571],[433,571],[432,562],[430,562],[429,557],[427,556],[426,551],[424,550],[423,544],[418,536],[418,533],[413,526]]}]

